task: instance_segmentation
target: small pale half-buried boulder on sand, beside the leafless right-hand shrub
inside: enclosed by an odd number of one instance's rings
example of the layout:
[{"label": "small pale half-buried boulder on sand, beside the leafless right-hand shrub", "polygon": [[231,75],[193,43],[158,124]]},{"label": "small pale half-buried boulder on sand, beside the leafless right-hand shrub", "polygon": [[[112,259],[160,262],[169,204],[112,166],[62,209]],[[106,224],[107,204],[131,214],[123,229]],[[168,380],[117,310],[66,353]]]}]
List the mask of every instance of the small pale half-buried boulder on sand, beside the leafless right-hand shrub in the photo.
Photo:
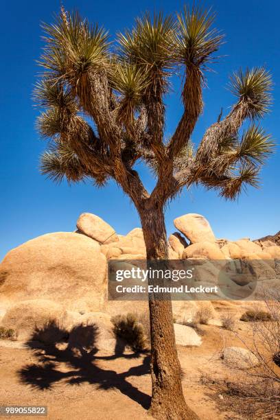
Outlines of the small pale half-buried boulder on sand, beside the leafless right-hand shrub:
[{"label": "small pale half-buried boulder on sand, beside the leafless right-hand shrub", "polygon": [[228,366],[235,369],[249,369],[259,364],[258,358],[252,351],[242,347],[226,347],[221,357]]}]

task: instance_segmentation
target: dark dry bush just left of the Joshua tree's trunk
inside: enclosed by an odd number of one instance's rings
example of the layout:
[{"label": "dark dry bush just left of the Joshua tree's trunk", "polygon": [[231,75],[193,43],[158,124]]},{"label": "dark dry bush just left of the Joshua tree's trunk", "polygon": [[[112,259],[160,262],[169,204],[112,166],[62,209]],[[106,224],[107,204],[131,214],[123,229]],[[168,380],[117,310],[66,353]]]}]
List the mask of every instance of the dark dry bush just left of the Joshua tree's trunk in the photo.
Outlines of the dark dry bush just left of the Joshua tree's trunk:
[{"label": "dark dry bush just left of the Joshua tree's trunk", "polygon": [[133,351],[147,349],[147,336],[137,314],[116,315],[111,321],[115,336],[124,340]]}]

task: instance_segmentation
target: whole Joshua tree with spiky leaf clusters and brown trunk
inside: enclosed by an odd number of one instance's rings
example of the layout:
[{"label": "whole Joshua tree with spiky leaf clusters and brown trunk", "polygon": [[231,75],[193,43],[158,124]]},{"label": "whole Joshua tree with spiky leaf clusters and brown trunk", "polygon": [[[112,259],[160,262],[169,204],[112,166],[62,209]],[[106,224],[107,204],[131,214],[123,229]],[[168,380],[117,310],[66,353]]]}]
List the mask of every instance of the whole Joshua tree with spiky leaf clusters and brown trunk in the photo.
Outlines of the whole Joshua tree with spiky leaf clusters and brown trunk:
[{"label": "whole Joshua tree with spiky leaf clusters and brown trunk", "polygon": [[[54,24],[44,25],[40,65],[45,71],[35,96],[45,108],[38,130],[51,142],[41,170],[56,181],[89,178],[98,187],[115,180],[139,213],[150,260],[168,257],[164,209],[169,200],[199,183],[233,199],[244,185],[257,186],[259,167],[272,152],[270,136],[253,124],[271,100],[270,75],[262,68],[233,73],[235,103],[194,150],[191,135],[202,113],[205,71],[222,42],[213,19],[197,8],[185,8],[174,19],[145,14],[115,43],[102,27],[64,9]],[[183,79],[183,115],[166,138],[164,99],[171,75]],[[251,125],[239,137],[246,119]],[[156,178],[151,192],[135,170],[139,161]],[[159,419],[196,419],[183,397],[172,303],[151,299],[149,305],[150,413]]]}]

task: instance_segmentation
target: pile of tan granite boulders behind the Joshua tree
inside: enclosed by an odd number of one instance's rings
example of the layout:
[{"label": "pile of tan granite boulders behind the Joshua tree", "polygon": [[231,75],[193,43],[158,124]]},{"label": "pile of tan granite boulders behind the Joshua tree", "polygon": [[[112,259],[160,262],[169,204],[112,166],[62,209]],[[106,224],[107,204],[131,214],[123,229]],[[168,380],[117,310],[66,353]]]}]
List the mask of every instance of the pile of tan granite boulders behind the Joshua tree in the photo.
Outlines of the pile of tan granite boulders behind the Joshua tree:
[{"label": "pile of tan granite boulders behind the Joshua tree", "polygon": [[[170,259],[202,259],[202,278],[217,278],[212,260],[252,260],[258,279],[274,279],[280,259],[279,233],[250,241],[248,238],[229,241],[217,239],[209,222],[198,214],[176,218],[178,231],[169,237]],[[35,327],[42,327],[56,318],[67,328],[89,319],[106,324],[100,344],[113,351],[114,339],[109,334],[110,316],[124,312],[148,311],[146,302],[108,302],[107,261],[110,259],[145,259],[143,232],[136,228],[127,235],[118,235],[102,218],[82,213],[75,232],[48,233],[10,250],[0,264],[0,325],[14,327],[26,337]],[[231,283],[224,279],[224,283]],[[246,285],[246,279],[244,279]],[[250,285],[248,285],[249,287]],[[213,306],[211,302],[207,305]],[[200,308],[199,302],[173,302],[177,323],[190,321]],[[103,315],[102,315],[103,314]],[[213,311],[213,318],[215,312]],[[103,325],[102,324],[102,325]],[[181,337],[187,327],[176,327],[179,342],[200,340]],[[110,334],[109,334],[110,335]],[[105,342],[107,344],[105,344]]]}]

